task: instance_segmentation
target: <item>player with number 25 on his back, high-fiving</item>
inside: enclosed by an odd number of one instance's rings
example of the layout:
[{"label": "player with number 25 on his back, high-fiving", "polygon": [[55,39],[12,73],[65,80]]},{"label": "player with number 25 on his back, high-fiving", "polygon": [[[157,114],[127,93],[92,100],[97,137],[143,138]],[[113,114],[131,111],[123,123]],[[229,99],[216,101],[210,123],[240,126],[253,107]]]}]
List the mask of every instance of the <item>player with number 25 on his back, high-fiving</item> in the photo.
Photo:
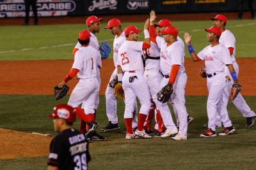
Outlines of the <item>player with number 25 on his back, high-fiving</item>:
[{"label": "player with number 25 on his back, high-fiving", "polygon": [[[150,39],[147,28],[144,30],[145,41],[137,41],[139,32],[136,26],[125,27],[125,41],[118,50],[117,73],[118,81],[122,81],[125,93],[124,119],[127,133],[125,139],[151,138],[144,130],[143,124],[150,110],[150,93],[143,76],[143,61],[141,53],[150,47]],[[123,73],[124,72],[124,76]],[[132,132],[132,112],[134,102],[138,97],[141,108],[138,114],[138,128]]]}]

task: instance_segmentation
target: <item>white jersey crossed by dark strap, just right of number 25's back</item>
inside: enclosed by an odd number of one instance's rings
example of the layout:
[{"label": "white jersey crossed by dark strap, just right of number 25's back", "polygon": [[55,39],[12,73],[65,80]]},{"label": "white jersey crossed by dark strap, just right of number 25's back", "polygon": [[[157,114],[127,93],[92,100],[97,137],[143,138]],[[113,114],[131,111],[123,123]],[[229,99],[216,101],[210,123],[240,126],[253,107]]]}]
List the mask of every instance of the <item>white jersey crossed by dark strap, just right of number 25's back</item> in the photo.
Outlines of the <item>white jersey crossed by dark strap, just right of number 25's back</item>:
[{"label": "white jersey crossed by dark strap, just right of number 25's back", "polygon": [[[159,57],[160,56],[160,48],[156,43],[150,41],[150,48],[147,48],[147,55],[150,57]],[[160,68],[160,60],[147,59],[145,62],[145,69],[159,69]]]}]

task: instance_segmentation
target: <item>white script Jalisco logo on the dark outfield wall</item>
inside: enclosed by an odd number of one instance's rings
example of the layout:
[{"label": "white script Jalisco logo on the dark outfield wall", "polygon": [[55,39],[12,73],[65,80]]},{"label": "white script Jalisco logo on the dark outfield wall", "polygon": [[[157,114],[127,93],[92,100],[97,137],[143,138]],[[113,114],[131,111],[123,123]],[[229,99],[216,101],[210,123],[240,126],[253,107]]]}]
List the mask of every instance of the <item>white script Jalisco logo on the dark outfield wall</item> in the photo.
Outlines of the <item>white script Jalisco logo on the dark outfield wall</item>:
[{"label": "white script Jalisco logo on the dark outfield wall", "polygon": [[110,10],[116,9],[116,0],[100,0],[97,2],[96,0],[92,1],[92,5],[88,8],[89,11],[94,11],[96,8],[99,10],[103,10],[105,8],[109,8]]}]

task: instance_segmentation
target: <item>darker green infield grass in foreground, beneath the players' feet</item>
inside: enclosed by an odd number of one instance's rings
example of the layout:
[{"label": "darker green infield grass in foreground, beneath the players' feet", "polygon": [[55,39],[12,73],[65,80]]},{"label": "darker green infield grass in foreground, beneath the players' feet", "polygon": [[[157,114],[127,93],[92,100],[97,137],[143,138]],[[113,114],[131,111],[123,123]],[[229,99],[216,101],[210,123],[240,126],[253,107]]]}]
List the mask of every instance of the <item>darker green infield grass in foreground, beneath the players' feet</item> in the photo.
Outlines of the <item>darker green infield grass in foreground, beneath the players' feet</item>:
[{"label": "darker green infield grass in foreground, beneath the players' feet", "polygon": [[[244,98],[256,110],[256,96]],[[90,169],[255,169],[256,129],[245,129],[245,118],[232,104],[228,104],[228,111],[237,133],[223,138],[199,138],[207,122],[206,99],[186,97],[188,112],[195,118],[189,126],[188,141],[158,138],[127,141],[122,132],[104,133],[108,141],[90,145]],[[47,115],[54,105],[67,100],[68,97],[54,101],[53,96],[1,95],[0,127],[54,134]],[[118,100],[121,127],[124,127],[123,111],[124,103]],[[100,129],[108,124],[104,96],[100,97],[97,113]],[[46,169],[45,162],[47,157],[0,160],[0,169]]]}]

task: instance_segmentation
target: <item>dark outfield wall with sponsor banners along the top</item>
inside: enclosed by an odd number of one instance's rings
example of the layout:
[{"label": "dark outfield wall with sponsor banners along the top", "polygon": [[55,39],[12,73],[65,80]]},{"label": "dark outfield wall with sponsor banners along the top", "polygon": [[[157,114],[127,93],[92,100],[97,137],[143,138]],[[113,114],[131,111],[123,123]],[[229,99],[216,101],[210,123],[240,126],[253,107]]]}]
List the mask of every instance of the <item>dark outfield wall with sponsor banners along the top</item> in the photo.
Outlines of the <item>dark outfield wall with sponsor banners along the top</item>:
[{"label": "dark outfield wall with sponsor banners along the top", "polygon": [[[244,5],[247,8],[247,5]],[[237,11],[234,0],[38,0],[39,17]],[[24,17],[24,0],[0,0],[0,18]],[[247,10],[247,9],[245,9]],[[30,15],[33,15],[31,12]]]}]

